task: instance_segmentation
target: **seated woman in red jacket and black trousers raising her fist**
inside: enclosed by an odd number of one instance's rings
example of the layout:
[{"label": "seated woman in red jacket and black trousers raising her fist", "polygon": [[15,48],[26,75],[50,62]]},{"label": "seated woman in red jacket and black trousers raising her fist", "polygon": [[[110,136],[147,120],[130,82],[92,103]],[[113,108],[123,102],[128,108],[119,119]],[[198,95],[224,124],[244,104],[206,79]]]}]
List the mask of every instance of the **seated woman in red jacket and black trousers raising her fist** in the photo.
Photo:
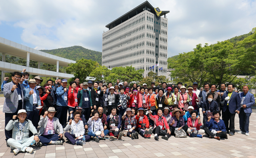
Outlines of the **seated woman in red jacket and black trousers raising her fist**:
[{"label": "seated woman in red jacket and black trousers raising her fist", "polygon": [[162,116],[162,108],[156,109],[157,114],[151,115],[151,111],[148,111],[149,118],[154,121],[153,133],[155,134],[155,140],[158,140],[158,135],[162,136],[162,139],[168,140],[171,137],[171,131],[169,130],[169,125],[166,118]]}]

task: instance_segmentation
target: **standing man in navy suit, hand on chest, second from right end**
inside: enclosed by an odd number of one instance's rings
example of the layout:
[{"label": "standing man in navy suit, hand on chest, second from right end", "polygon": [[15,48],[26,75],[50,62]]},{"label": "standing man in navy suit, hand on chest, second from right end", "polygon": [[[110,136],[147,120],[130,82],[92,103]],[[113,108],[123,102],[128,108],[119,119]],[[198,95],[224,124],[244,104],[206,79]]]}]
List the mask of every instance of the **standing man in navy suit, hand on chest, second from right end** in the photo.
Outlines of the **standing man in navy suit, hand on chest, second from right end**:
[{"label": "standing man in navy suit, hand on chest, second from right end", "polygon": [[230,136],[235,135],[235,115],[236,113],[240,113],[240,97],[237,92],[233,92],[235,88],[235,85],[232,83],[228,84],[228,92],[224,93],[224,107],[223,107],[223,112],[224,112],[224,123],[226,126],[227,133],[230,133]]}]

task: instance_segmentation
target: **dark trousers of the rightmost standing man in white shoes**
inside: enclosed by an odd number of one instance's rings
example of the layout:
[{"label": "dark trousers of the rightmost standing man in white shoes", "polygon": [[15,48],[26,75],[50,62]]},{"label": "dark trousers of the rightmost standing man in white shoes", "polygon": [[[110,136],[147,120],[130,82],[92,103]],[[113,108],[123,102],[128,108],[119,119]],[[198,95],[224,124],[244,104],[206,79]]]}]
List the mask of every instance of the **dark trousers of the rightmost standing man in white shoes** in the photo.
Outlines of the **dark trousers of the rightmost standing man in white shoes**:
[{"label": "dark trousers of the rightmost standing man in white shoes", "polygon": [[244,108],[241,108],[238,116],[239,116],[240,130],[245,133],[248,133],[251,113],[245,113]]}]

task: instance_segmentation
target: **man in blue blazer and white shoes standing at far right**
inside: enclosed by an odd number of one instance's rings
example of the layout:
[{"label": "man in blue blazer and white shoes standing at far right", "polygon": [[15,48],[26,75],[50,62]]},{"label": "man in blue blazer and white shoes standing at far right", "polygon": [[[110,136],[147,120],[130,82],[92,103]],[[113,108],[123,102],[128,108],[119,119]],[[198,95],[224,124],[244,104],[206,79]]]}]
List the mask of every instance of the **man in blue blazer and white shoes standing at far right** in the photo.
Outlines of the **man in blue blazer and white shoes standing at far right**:
[{"label": "man in blue blazer and white shoes standing at far right", "polygon": [[240,100],[241,100],[241,109],[239,116],[239,125],[240,130],[237,133],[245,134],[246,136],[249,136],[249,118],[252,113],[251,106],[255,104],[254,95],[249,91],[248,86],[243,86],[243,92],[239,94]]}]

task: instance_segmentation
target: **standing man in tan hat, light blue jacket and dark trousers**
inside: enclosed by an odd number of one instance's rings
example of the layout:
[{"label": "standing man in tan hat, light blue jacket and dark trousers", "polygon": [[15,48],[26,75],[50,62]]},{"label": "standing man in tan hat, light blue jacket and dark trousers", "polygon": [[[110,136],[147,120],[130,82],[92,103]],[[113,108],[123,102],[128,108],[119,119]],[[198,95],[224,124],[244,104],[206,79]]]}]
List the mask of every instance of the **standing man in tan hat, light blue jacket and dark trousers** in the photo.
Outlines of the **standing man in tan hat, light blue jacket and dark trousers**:
[{"label": "standing man in tan hat, light blue jacket and dark trousers", "polygon": [[28,82],[29,88],[24,90],[24,108],[27,111],[27,119],[32,121],[32,124],[36,127],[38,126],[38,116],[41,106],[41,99],[39,96],[39,91],[35,89],[36,80],[30,79]]}]

